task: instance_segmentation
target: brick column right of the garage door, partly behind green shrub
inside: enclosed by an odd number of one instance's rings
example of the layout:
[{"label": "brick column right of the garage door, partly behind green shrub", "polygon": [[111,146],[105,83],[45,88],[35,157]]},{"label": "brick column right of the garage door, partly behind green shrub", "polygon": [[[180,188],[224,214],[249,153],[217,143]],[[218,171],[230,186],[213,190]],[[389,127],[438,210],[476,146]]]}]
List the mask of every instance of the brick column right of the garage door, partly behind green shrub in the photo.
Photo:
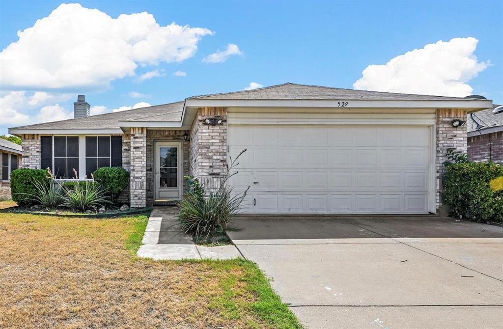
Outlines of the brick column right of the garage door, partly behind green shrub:
[{"label": "brick column right of the garage door, partly behind green shrub", "polygon": [[453,127],[454,119],[466,121],[466,110],[437,110],[437,208],[442,206],[442,176],[445,173],[447,150],[452,148],[457,152],[466,153],[466,125]]}]

